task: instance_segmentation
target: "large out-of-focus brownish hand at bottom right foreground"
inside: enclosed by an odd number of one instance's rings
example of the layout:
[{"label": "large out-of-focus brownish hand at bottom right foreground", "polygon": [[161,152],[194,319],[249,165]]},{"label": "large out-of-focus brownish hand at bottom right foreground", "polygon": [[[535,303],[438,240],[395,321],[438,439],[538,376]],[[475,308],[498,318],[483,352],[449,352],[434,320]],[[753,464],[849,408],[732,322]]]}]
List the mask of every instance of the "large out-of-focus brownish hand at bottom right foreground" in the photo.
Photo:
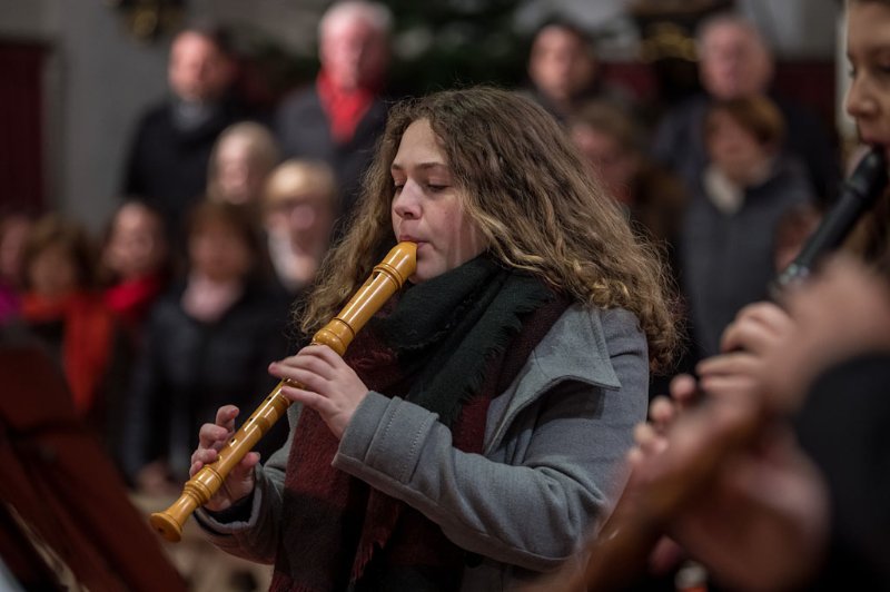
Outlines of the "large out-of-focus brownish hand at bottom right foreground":
[{"label": "large out-of-focus brownish hand at bottom right foreground", "polygon": [[767,422],[756,402],[714,397],[659,440],[629,457],[629,482],[590,549],[587,585],[615,578],[616,565],[641,569],[643,556],[669,566],[680,554],[671,541],[731,588],[805,583],[824,551],[828,501],[785,425]]}]

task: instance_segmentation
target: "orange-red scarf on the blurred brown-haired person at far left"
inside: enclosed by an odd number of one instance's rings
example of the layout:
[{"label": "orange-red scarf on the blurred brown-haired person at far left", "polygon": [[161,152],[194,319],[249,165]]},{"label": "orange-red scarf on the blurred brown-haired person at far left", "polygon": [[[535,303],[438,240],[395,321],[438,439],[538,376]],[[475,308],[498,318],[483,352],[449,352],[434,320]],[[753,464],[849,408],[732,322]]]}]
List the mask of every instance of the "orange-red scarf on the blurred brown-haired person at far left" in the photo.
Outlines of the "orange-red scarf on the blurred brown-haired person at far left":
[{"label": "orange-red scarf on the blurred brown-haired person at far left", "polygon": [[101,298],[76,292],[48,299],[39,294],[22,297],[22,317],[32,324],[61,320],[62,368],[75,408],[86,415],[92,407],[111,355],[115,320]]}]

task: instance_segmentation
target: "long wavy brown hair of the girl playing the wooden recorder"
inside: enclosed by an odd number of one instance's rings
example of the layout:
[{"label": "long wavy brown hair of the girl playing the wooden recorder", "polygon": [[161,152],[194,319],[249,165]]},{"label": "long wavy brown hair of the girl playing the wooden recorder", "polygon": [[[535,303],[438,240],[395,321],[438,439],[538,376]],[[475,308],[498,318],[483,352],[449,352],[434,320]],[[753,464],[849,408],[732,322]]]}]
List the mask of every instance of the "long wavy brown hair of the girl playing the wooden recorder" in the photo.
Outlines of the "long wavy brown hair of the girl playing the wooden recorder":
[{"label": "long wavy brown hair of the girl playing the wooden recorder", "polygon": [[396,244],[389,166],[405,129],[421,119],[438,137],[464,210],[490,253],[578,303],[633,312],[653,368],[664,367],[678,330],[659,253],[634,236],[543,108],[488,87],[441,91],[393,108],[348,230],[325,259],[303,310],[304,333],[334,316]]}]

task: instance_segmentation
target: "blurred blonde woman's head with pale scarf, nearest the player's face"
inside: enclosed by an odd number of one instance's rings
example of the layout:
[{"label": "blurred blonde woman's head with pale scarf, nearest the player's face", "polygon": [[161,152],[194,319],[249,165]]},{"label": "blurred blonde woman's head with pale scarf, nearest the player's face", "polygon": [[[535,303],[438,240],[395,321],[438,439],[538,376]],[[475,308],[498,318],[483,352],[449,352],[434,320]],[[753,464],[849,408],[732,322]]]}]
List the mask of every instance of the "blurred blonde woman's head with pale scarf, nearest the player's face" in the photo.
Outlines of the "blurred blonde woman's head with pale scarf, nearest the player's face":
[{"label": "blurred blonde woman's head with pale scarf, nearest the player's face", "polygon": [[290,159],[269,175],[263,201],[269,257],[290,295],[312,284],[327,254],[337,214],[337,185],[324,162]]}]

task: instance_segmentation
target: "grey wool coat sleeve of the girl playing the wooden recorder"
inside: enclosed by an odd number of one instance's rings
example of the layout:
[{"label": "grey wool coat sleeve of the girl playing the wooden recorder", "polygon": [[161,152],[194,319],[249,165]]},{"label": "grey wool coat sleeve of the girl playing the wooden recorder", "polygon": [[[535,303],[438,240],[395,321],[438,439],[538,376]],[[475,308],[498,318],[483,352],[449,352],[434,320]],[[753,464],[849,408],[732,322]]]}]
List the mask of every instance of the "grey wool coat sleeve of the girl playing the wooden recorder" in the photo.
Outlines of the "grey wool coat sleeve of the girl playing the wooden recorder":
[{"label": "grey wool coat sleeve of the girl playing the wooden recorder", "polygon": [[491,457],[455,448],[435,414],[372,392],[334,466],[417,509],[467,551],[533,571],[556,568],[617,493],[615,463],[645,416],[646,345],[627,316],[603,317],[621,388],[548,377]]}]

